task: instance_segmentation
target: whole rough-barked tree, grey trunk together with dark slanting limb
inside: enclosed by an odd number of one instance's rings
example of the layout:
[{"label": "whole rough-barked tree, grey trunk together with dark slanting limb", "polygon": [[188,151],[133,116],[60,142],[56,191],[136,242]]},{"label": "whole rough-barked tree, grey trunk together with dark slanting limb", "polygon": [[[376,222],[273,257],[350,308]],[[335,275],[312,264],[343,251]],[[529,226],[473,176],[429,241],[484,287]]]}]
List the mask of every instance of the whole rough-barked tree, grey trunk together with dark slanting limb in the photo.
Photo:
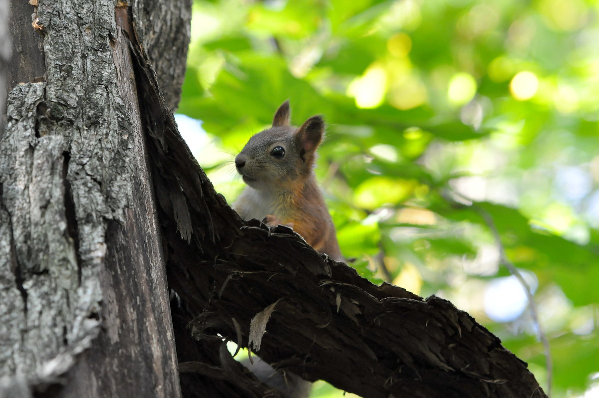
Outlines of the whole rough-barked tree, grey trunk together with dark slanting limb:
[{"label": "whole rough-barked tree, grey trunk together with dark slanting limb", "polygon": [[280,396],[223,338],[364,397],[544,396],[446,300],[374,286],[287,227],[237,217],[171,113],[189,38],[189,3],[174,3],[14,7],[0,396]]}]

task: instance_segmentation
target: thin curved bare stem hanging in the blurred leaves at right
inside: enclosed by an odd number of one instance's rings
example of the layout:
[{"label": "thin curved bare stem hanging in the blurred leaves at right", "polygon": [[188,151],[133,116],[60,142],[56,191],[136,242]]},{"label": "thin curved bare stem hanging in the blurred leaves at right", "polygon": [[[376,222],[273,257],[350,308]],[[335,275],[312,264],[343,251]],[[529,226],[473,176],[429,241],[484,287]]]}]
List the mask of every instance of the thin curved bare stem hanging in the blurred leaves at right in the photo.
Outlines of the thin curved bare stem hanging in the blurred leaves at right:
[{"label": "thin curved bare stem hanging in the blurred leaves at right", "polygon": [[540,339],[541,343],[543,344],[543,351],[545,354],[545,365],[547,367],[547,397],[551,398],[553,361],[551,359],[551,350],[549,348],[549,340],[547,340],[547,336],[545,335],[545,333],[543,332],[543,328],[541,327],[541,322],[539,320],[539,315],[538,315],[539,311],[537,309],[536,303],[534,302],[533,293],[532,293],[527,281],[524,280],[524,278],[522,277],[522,274],[520,273],[520,271],[518,271],[518,268],[516,268],[516,266],[507,258],[506,250],[503,247],[503,244],[501,243],[501,236],[499,235],[497,227],[495,227],[495,223],[493,221],[493,217],[491,217],[491,214],[489,214],[488,211],[486,211],[485,209],[483,209],[480,206],[473,205],[473,208],[479,212],[479,214],[483,217],[483,219],[485,220],[485,223],[489,227],[489,230],[491,230],[491,233],[493,234],[495,242],[497,243],[497,248],[499,250],[500,262],[506,266],[508,271],[510,271],[510,274],[514,275],[516,277],[516,279],[518,279],[518,281],[524,288],[524,291],[526,292],[528,303],[530,305],[531,317],[533,318],[534,324],[536,324],[536,326],[537,326],[537,332],[539,334],[539,339]]}]

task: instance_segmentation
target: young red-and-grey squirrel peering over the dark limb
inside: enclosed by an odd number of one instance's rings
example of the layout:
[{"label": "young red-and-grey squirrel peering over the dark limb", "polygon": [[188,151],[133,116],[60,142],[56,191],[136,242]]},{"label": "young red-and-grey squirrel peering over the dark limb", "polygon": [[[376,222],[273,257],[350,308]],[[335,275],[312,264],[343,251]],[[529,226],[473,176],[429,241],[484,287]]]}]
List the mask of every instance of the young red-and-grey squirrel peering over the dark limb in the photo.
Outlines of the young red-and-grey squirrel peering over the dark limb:
[{"label": "young red-and-grey squirrel peering over the dark limb", "polygon": [[274,114],[273,126],[252,136],[235,157],[247,187],[233,204],[249,220],[269,227],[286,224],[319,253],[344,261],[335,226],[314,176],[316,150],[325,133],[322,116],[291,125],[289,100]]}]

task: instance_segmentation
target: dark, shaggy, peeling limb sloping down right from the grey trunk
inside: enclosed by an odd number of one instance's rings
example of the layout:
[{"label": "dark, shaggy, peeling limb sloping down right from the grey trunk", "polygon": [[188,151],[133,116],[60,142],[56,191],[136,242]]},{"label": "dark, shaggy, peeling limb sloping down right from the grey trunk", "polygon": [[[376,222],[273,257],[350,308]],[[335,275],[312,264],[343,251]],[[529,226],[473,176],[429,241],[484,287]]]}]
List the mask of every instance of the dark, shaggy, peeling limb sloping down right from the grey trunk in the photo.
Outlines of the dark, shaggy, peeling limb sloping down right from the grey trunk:
[{"label": "dark, shaggy, peeling limb sloping down right from the grey trunk", "polygon": [[[179,360],[200,363],[187,370],[202,386],[213,385],[214,396],[255,396],[240,389],[245,375],[217,347],[220,336],[247,347],[252,318],[276,303],[265,330],[254,331],[265,332],[258,354],[305,379],[376,398],[545,396],[524,362],[450,302],[375,286],[287,227],[240,220],[181,140],[147,58],[135,54],[168,281],[182,302]],[[187,322],[195,351],[181,329]],[[227,385],[237,390],[217,394]]]}]

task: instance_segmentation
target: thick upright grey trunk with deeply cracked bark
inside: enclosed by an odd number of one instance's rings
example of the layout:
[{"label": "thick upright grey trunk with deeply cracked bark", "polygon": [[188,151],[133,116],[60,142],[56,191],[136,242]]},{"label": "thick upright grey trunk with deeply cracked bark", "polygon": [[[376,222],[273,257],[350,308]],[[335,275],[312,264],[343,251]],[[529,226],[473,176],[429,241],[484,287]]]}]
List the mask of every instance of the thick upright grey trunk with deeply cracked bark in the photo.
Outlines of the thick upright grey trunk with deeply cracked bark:
[{"label": "thick upright grey trunk with deeply cracked bark", "polygon": [[[184,68],[189,4],[162,3],[151,4],[150,30],[159,36],[156,26],[183,21],[169,32],[176,51],[165,57],[173,53]],[[7,396],[180,396],[127,37],[131,9],[143,6],[11,7],[12,91],[0,144],[0,395],[4,388]],[[183,68],[171,79],[180,81]]]}]

